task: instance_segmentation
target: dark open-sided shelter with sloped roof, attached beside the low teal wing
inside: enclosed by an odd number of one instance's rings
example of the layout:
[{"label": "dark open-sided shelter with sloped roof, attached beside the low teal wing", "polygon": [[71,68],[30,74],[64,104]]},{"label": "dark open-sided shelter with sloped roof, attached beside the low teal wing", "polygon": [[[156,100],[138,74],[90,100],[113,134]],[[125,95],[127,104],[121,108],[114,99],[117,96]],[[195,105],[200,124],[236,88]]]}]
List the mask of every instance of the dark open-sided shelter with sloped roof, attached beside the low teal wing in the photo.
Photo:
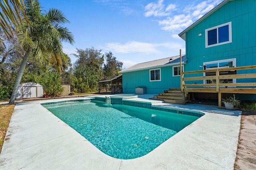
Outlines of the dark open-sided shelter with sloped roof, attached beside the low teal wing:
[{"label": "dark open-sided shelter with sloped roof, attached beside the low teal wing", "polygon": [[[106,89],[110,89],[111,90],[111,93],[114,94],[114,93],[122,93],[122,78],[123,78],[123,75],[120,74],[110,80],[102,80],[102,81],[99,81],[99,93],[101,92],[101,85],[102,84],[105,84],[105,88]],[[108,91],[108,90],[106,90]]]}]

